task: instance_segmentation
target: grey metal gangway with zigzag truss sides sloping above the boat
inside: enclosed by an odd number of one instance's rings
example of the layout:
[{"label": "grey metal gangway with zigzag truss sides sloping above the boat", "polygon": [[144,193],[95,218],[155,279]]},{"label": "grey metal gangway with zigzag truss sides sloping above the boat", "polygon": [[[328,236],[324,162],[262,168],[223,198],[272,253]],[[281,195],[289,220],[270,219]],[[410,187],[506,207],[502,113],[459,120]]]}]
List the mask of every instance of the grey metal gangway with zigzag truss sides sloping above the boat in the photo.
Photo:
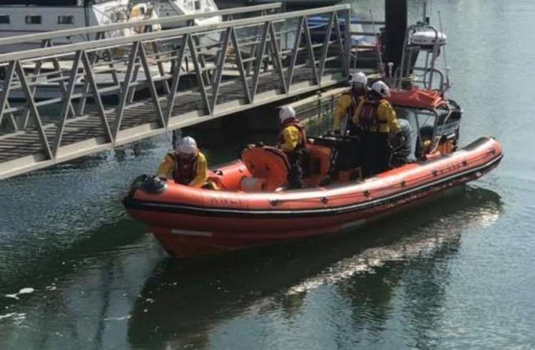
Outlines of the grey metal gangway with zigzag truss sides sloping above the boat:
[{"label": "grey metal gangway with zigzag truss sides sloping above the boat", "polygon": [[[320,38],[312,16],[328,19]],[[1,54],[0,179],[341,83],[341,19],[350,5]],[[51,84],[59,95],[39,95]]]}]

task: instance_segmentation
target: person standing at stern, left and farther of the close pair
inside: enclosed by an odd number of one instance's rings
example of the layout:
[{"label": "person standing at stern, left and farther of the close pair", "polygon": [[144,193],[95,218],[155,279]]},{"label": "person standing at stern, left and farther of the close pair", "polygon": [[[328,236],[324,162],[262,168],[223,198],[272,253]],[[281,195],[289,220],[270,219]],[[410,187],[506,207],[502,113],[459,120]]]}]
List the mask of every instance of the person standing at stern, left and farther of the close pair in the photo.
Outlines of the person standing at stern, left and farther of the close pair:
[{"label": "person standing at stern, left and farther of the close pair", "polygon": [[355,115],[355,110],[357,110],[360,100],[366,96],[367,82],[368,78],[365,73],[357,72],[351,75],[350,88],[345,93],[342,93],[336,105],[334,124],[332,125],[332,130],[335,134],[349,132],[351,135],[355,133],[355,125],[351,120]]}]

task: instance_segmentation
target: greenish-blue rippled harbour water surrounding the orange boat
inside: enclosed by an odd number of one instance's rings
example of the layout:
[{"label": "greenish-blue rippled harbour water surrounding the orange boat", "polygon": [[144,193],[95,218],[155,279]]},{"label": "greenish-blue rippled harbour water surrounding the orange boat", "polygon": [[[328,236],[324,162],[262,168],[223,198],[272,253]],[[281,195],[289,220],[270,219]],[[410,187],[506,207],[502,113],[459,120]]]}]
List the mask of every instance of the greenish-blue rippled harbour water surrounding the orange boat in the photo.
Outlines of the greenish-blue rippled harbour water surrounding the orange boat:
[{"label": "greenish-blue rippled harbour water surrounding the orange boat", "polygon": [[[377,1],[356,4],[380,16]],[[4,180],[0,349],[534,348],[535,3],[432,10],[462,143],[504,145],[493,173],[347,235],[187,261],[120,202],[168,136]],[[235,128],[198,135],[212,163],[270,137]]]}]

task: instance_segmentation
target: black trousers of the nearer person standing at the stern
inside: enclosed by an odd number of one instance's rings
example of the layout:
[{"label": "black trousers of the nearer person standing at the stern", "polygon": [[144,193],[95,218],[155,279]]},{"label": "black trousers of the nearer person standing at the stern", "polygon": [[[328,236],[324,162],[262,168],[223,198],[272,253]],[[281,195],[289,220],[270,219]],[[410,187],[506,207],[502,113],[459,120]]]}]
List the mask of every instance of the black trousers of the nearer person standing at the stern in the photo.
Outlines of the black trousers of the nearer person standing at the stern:
[{"label": "black trousers of the nearer person standing at the stern", "polygon": [[388,133],[365,133],[362,138],[362,173],[364,177],[382,173],[390,168]]}]

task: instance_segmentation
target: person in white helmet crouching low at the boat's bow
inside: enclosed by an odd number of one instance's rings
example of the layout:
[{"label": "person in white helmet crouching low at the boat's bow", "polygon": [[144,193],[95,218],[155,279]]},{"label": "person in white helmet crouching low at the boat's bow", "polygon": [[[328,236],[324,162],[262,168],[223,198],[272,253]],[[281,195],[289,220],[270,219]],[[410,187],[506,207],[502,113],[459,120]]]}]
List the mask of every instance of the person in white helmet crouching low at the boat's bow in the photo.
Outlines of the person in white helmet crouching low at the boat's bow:
[{"label": "person in white helmet crouching low at the boat's bow", "polygon": [[207,182],[207,168],[205,155],[197,148],[195,139],[186,136],[173,152],[165,155],[158,167],[158,177],[172,178],[182,185],[213,188]]}]

